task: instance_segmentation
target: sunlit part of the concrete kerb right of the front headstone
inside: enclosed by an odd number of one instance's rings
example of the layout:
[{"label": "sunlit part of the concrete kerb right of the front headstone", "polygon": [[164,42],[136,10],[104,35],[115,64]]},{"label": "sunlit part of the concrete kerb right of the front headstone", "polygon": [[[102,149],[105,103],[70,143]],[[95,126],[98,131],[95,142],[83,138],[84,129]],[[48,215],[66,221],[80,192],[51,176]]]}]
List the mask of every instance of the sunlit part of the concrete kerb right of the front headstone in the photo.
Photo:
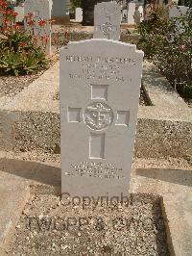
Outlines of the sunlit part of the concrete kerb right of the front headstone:
[{"label": "sunlit part of the concrete kerb right of the front headstone", "polygon": [[[134,170],[130,192],[146,192],[162,196],[161,208],[166,226],[170,254],[175,256],[192,255],[192,184],[187,186],[170,183],[139,175]],[[181,170],[180,170],[181,171]],[[169,170],[167,169],[167,173]],[[190,172],[190,179],[192,172]],[[172,180],[174,174],[172,173]],[[176,175],[175,175],[176,177]]]}]

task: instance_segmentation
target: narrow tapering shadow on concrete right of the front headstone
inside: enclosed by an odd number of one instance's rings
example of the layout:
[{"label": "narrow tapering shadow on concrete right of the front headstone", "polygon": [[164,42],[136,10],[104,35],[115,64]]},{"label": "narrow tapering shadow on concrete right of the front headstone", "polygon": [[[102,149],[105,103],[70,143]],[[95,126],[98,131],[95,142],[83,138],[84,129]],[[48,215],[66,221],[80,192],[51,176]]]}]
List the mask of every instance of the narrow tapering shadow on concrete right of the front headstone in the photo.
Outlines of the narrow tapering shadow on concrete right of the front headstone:
[{"label": "narrow tapering shadow on concrete right of the front headstone", "polygon": [[192,187],[192,170],[137,168],[136,175]]}]

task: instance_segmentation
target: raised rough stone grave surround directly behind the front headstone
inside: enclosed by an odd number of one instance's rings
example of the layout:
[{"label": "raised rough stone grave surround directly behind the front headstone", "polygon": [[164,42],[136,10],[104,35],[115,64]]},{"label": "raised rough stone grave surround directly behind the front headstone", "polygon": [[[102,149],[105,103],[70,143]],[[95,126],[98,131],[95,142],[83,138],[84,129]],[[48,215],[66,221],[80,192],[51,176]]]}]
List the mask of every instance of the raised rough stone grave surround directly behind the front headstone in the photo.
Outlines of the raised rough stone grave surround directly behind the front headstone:
[{"label": "raised rough stone grave surround directly behind the front headstone", "polygon": [[[153,105],[139,106],[134,155],[192,157],[192,109],[153,64],[144,64],[142,83]],[[46,152],[60,145],[58,92],[59,63],[13,99],[1,98],[0,149]]]}]

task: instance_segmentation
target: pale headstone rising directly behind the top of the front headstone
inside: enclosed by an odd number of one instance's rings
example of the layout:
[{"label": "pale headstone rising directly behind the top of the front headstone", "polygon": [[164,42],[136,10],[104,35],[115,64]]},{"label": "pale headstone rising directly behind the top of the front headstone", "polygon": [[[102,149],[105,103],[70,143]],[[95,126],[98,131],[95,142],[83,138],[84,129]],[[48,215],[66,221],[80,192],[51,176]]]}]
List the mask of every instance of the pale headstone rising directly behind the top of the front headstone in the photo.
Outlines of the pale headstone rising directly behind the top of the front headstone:
[{"label": "pale headstone rising directly behind the top of the front headstone", "polygon": [[116,2],[98,3],[94,9],[93,38],[119,40],[121,8]]}]

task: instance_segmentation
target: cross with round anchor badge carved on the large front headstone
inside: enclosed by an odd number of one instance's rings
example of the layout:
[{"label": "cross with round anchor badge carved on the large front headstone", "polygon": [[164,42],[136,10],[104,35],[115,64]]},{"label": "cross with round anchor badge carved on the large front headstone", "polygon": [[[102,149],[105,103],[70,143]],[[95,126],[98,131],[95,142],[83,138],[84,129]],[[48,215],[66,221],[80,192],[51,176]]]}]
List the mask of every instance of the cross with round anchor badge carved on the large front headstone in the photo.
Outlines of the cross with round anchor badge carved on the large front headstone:
[{"label": "cross with round anchor badge carved on the large front headstone", "polygon": [[105,159],[106,133],[112,123],[128,129],[130,111],[113,111],[108,105],[108,86],[90,85],[91,100],[83,110],[68,106],[68,123],[84,124],[89,133],[89,159]]}]

